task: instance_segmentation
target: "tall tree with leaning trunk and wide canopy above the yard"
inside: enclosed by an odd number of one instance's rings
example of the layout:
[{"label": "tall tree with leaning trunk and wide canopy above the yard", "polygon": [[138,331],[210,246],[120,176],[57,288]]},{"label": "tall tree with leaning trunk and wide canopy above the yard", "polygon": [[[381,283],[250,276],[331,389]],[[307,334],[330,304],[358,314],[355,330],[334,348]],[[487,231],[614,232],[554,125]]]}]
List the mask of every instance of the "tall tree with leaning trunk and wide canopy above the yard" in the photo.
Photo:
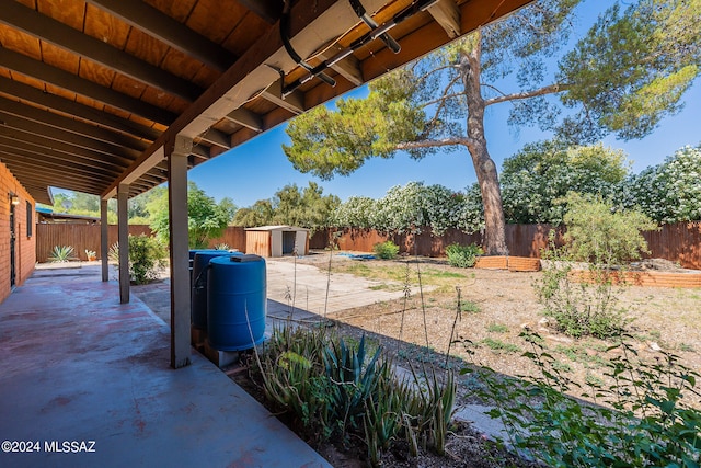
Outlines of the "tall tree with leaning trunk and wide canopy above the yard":
[{"label": "tall tree with leaning trunk and wide canopy above the yard", "polygon": [[[538,125],[570,144],[608,133],[639,138],[679,111],[699,73],[701,0],[617,2],[563,53],[579,3],[536,1],[376,80],[365,100],[341,100],[337,111],[319,106],[297,117],[287,129],[286,155],[296,169],[329,179],[370,157],[467,149],[484,207],[486,251],[507,253],[486,107],[508,102],[509,124]],[[556,70],[548,67],[553,61]],[[567,114],[548,96],[559,96]]]}]

